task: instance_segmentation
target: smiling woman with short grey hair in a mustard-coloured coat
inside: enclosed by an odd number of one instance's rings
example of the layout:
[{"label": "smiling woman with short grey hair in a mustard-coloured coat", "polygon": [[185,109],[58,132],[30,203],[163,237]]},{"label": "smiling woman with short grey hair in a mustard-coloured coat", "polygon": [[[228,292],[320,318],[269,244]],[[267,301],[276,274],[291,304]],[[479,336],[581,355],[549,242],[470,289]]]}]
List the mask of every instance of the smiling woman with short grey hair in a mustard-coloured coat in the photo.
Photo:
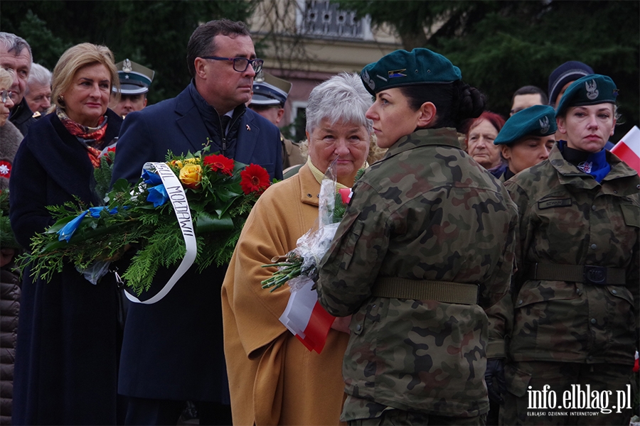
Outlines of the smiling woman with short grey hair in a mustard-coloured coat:
[{"label": "smiling woman with short grey hair in a mustard-coloured coat", "polygon": [[371,97],[356,75],[314,88],[306,108],[309,159],[270,187],[247,219],[223,284],[225,357],[233,423],[337,425],[343,402],[342,358],[348,341],[336,320],[321,354],[310,352],[279,322],[289,287],[270,293],[260,281],[271,258],[296,247],[318,218],[320,182],[337,160],[338,184],[351,187],[367,158]]}]

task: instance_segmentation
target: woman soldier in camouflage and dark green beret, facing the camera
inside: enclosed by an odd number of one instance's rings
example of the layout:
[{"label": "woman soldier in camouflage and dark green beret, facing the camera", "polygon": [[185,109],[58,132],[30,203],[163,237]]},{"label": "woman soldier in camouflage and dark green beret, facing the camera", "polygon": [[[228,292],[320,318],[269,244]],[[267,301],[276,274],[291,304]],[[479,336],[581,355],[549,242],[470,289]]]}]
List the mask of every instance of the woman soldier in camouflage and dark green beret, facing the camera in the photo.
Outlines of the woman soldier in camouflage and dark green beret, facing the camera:
[{"label": "woman soldier in camouflage and dark green beret, facing the camera", "polygon": [[520,226],[504,425],[629,425],[640,179],[604,150],[616,96],[609,77],[576,80],[556,111],[566,140],[505,183]]}]

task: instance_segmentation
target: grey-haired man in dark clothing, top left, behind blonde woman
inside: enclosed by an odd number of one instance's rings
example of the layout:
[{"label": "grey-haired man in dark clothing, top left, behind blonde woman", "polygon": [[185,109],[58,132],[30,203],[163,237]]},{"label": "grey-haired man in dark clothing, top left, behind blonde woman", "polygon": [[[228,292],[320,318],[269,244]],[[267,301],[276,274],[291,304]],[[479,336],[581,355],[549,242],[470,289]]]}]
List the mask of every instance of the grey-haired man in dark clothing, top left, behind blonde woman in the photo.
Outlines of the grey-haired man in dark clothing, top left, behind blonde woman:
[{"label": "grey-haired man in dark clothing, top left, behind blonde woman", "polygon": [[[14,107],[11,108],[9,121],[26,136],[29,126],[36,121],[33,111],[24,99],[24,92],[31,72],[31,47],[18,35],[0,32],[0,67],[5,70],[14,70],[14,84],[11,84],[11,99]],[[39,115],[39,114],[38,114]]]}]

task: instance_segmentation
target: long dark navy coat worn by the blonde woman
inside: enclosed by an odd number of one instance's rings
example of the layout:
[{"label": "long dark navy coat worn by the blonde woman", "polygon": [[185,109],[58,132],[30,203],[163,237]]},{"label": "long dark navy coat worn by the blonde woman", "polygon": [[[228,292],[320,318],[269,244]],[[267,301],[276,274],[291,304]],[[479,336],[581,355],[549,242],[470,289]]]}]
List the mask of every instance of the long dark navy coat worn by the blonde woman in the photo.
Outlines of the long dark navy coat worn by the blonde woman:
[{"label": "long dark navy coat worn by the blonde woman", "polygon": [[[107,110],[105,138],[122,119]],[[55,114],[39,119],[11,170],[11,227],[28,247],[53,224],[50,204],[100,204],[87,150]],[[14,425],[112,425],[116,422],[119,297],[113,274],[92,285],[66,265],[49,282],[23,273],[14,371]]]}]

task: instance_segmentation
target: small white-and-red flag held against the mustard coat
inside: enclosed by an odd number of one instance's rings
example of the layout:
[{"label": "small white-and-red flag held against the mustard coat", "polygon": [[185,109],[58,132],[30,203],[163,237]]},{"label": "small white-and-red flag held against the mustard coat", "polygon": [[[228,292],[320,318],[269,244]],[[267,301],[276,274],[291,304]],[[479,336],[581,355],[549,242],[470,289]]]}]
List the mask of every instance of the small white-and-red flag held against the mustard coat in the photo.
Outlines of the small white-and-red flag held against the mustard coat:
[{"label": "small white-and-red flag held against the mustard coat", "polygon": [[313,285],[314,282],[308,280],[302,288],[291,293],[280,322],[295,334],[306,349],[320,353],[336,317],[320,305]]}]

